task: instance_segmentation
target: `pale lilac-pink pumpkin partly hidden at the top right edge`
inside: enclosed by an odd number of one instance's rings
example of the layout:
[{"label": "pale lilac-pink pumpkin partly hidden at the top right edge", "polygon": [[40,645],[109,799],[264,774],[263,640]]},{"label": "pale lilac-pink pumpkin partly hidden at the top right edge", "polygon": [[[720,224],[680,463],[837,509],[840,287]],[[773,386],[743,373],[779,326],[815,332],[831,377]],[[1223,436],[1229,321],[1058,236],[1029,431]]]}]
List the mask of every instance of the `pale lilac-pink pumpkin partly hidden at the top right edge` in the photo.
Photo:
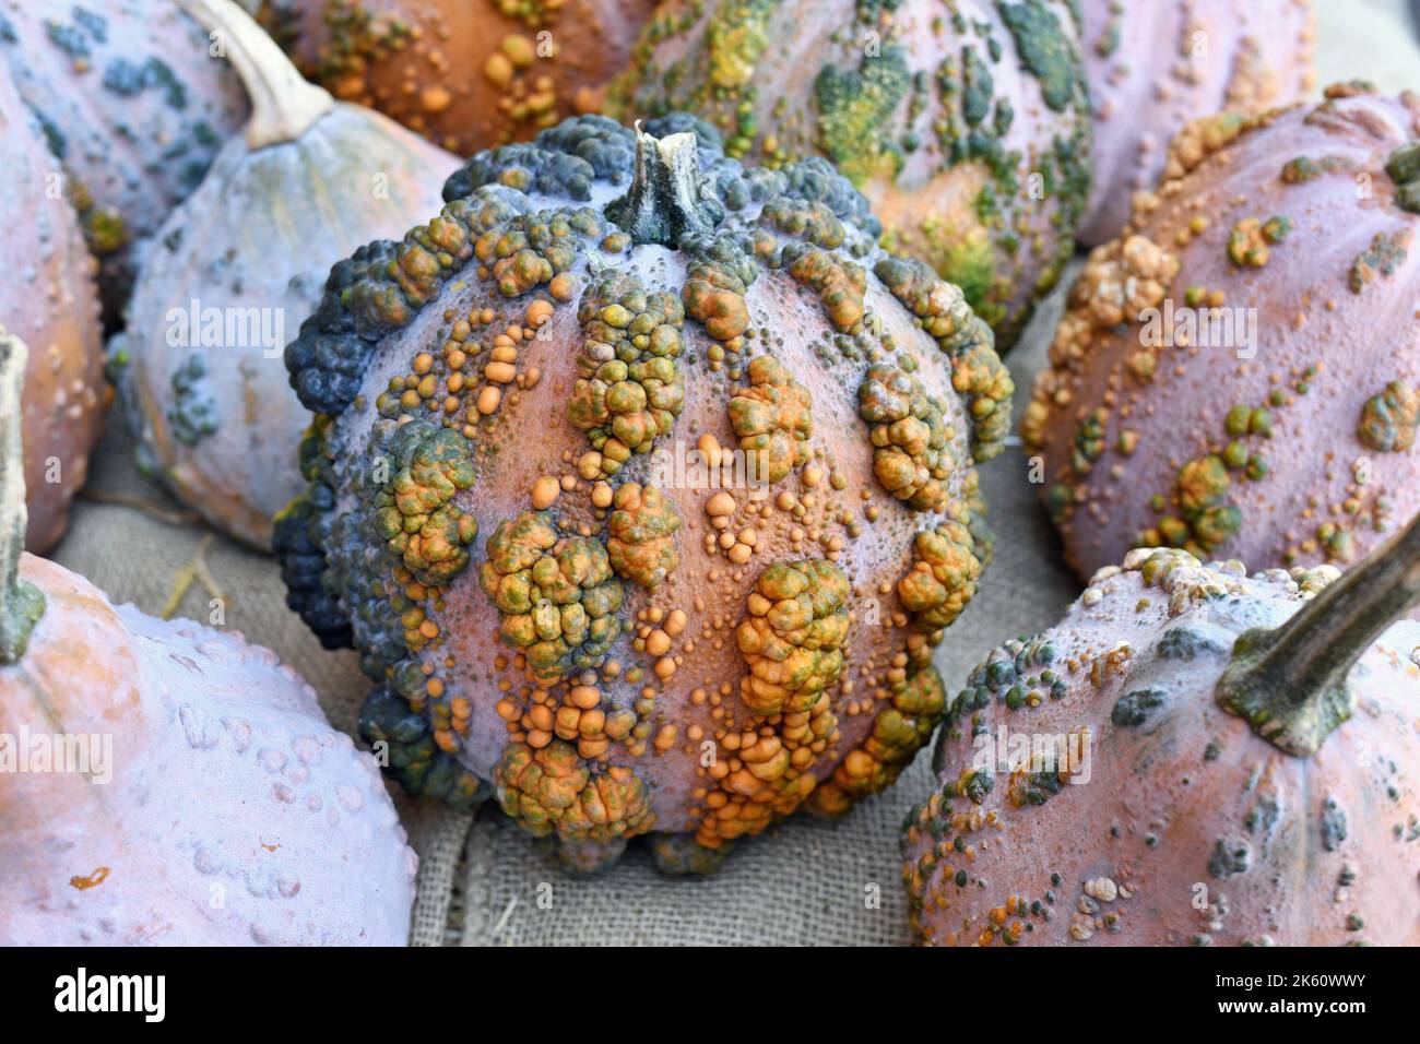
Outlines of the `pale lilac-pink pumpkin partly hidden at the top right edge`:
[{"label": "pale lilac-pink pumpkin partly hidden at the top right edge", "polygon": [[1169,142],[1211,112],[1255,115],[1315,87],[1311,0],[1085,0],[1095,183],[1079,241],[1099,246],[1159,185]]}]

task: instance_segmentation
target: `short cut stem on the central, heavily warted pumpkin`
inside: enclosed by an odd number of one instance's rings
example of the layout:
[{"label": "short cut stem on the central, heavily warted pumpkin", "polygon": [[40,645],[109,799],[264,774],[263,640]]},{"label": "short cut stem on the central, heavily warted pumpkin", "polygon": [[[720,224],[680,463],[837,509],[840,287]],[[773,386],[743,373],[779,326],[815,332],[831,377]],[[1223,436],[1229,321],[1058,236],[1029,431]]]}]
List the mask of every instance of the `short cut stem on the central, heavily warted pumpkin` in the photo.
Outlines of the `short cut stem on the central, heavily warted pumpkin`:
[{"label": "short cut stem on the central, heavily warted pumpkin", "polygon": [[636,124],[636,175],[630,190],[606,205],[606,216],[638,243],[679,247],[714,220],[700,197],[700,159],[693,134],[652,138]]}]

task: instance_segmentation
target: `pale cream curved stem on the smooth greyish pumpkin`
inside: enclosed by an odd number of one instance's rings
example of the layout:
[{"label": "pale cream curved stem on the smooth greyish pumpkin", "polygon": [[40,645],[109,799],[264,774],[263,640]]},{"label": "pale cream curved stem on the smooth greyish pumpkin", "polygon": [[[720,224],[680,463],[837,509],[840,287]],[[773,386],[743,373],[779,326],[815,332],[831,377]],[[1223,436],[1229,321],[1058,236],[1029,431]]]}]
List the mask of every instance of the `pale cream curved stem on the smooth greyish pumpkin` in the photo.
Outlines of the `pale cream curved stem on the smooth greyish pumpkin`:
[{"label": "pale cream curved stem on the smooth greyish pumpkin", "polygon": [[310,84],[251,16],[231,0],[179,0],[187,13],[212,34],[213,57],[226,55],[251,101],[247,145],[294,142],[331,111],[331,95]]}]

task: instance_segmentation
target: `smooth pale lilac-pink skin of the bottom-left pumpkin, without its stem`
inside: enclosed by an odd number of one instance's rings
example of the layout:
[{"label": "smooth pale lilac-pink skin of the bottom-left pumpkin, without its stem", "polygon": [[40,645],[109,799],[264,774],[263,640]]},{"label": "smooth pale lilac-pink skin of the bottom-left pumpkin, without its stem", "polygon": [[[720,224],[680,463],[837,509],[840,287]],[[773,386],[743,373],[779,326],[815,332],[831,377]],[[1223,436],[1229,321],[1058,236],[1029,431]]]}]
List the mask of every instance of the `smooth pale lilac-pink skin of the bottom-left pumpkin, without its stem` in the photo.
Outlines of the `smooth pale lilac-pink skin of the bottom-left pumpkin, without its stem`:
[{"label": "smooth pale lilac-pink skin of the bottom-left pumpkin, without its stem", "polygon": [[0,733],[111,736],[112,778],[3,777],[0,943],[405,943],[417,857],[294,669],[41,558],[20,575],[47,608],[0,666]]}]

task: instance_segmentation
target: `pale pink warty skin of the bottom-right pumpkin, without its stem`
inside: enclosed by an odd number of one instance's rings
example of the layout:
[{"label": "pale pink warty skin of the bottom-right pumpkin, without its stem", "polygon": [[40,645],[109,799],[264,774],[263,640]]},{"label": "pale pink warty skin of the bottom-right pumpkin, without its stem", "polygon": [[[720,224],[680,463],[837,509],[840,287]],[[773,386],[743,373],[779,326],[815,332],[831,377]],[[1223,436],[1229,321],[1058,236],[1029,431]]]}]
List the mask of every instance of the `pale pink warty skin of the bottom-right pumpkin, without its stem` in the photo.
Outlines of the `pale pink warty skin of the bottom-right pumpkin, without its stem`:
[{"label": "pale pink warty skin of the bottom-right pumpkin, without its stem", "polygon": [[[1164,562],[1172,568],[1160,570]],[[1163,575],[1150,572],[1149,582],[1146,568]],[[954,710],[937,751],[950,787],[978,753],[971,714],[993,736],[1003,724],[1031,734],[1088,729],[1088,781],[1015,807],[998,773],[980,804],[933,794],[919,805],[903,835],[919,937],[1420,945],[1420,625],[1394,624],[1352,668],[1355,712],[1312,757],[1275,749],[1214,697],[1237,635],[1277,626],[1299,609],[1302,591],[1335,575],[1323,567],[1248,578],[1241,562],[1204,568],[1173,550],[1133,551],[1123,568],[1100,570],[1065,619],[1038,636],[1055,649],[1065,693],[1017,712],[995,697],[981,710]],[[1179,642],[1191,659],[1162,656],[1160,639],[1180,629],[1197,636]],[[1163,703],[1142,724],[1115,724],[1116,702],[1149,687],[1164,692]],[[934,839],[939,820],[957,828]],[[954,851],[958,835],[966,852]],[[1247,869],[1217,858],[1220,841],[1230,852],[1245,845]],[[1048,920],[1031,912],[1037,901]]]}]

